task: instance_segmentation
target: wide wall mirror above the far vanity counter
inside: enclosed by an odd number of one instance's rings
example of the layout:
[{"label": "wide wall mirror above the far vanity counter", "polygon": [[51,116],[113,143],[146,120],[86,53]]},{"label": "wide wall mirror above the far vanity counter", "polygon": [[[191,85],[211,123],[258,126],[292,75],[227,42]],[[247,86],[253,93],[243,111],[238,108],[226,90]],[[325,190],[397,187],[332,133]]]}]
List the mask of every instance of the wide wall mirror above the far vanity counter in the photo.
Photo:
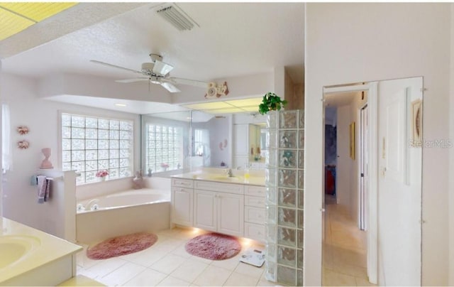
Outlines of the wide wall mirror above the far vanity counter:
[{"label": "wide wall mirror above the far vanity counter", "polygon": [[142,115],[140,122],[143,174],[265,169],[265,117],[255,112],[164,112]]}]

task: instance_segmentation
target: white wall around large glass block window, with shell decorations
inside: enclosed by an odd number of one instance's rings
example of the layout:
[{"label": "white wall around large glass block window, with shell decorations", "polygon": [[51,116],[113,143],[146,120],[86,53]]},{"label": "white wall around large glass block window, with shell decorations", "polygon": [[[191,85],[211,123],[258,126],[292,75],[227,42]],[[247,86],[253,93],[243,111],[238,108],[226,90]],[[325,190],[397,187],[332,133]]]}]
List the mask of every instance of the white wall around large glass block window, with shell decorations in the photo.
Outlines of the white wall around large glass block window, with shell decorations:
[{"label": "white wall around large glass block window, with shell decorations", "polygon": [[[50,230],[47,224],[60,216],[58,211],[50,209],[44,203],[38,205],[36,186],[31,185],[31,176],[38,173],[38,167],[43,161],[41,148],[52,148],[52,162],[55,170],[61,169],[59,161],[60,141],[58,138],[60,122],[58,111],[80,114],[93,114],[100,117],[116,117],[134,120],[135,134],[138,139],[138,116],[112,112],[105,109],[92,109],[72,104],[50,102],[38,98],[37,84],[34,80],[19,78],[13,75],[1,75],[1,102],[9,104],[11,109],[11,141],[13,168],[4,175],[4,216],[31,227]],[[16,132],[17,126],[28,126],[30,132],[21,136]],[[16,147],[17,141],[26,139],[30,142],[28,149]],[[134,169],[139,168],[138,140],[134,141]],[[74,207],[75,208],[75,207]]]}]

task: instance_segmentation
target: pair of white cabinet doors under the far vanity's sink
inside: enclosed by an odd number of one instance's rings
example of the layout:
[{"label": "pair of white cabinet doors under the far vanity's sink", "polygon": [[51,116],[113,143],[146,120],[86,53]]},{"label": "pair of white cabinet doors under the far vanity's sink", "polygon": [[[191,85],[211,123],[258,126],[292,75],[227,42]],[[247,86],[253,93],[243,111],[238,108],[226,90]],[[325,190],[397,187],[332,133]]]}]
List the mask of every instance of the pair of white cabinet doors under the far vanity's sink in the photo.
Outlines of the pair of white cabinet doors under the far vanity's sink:
[{"label": "pair of white cabinet doors under the far vanity's sink", "polygon": [[196,180],[194,226],[243,237],[243,185]]}]

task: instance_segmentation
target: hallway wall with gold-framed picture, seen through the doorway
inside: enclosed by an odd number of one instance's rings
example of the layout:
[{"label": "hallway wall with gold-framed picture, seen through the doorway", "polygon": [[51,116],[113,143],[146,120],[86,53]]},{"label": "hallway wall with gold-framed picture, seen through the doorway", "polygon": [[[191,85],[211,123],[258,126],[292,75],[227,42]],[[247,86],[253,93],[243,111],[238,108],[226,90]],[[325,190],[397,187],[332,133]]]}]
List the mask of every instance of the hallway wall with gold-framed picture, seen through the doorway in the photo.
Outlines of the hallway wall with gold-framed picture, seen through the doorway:
[{"label": "hallway wall with gold-framed picture, seen through the doorway", "polygon": [[351,161],[350,158],[350,106],[338,107],[336,166],[336,200],[338,205],[350,210]]}]

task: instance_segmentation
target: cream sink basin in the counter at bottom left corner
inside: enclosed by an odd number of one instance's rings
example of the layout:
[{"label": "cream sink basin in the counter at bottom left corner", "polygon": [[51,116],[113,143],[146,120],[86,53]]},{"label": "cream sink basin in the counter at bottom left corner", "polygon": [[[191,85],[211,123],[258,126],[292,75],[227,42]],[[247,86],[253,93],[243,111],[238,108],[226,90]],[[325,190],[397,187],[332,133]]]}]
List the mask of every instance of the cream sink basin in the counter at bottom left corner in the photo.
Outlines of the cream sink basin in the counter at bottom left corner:
[{"label": "cream sink basin in the counter at bottom left corner", "polygon": [[0,269],[25,257],[40,245],[40,239],[26,235],[0,237]]}]

